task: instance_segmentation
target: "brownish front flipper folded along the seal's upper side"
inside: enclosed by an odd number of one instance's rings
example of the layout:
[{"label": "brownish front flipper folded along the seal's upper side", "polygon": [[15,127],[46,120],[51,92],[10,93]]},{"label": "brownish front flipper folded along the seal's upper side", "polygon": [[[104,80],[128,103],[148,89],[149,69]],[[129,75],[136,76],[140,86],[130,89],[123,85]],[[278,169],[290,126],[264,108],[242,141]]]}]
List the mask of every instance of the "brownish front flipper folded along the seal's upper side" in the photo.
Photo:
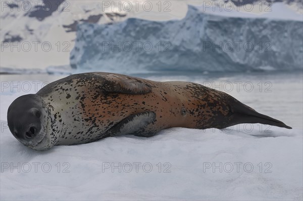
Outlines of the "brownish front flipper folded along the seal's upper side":
[{"label": "brownish front flipper folded along the seal's upper side", "polygon": [[118,75],[107,75],[102,88],[106,92],[123,94],[146,94],[151,92],[151,87],[139,80],[128,79]]}]

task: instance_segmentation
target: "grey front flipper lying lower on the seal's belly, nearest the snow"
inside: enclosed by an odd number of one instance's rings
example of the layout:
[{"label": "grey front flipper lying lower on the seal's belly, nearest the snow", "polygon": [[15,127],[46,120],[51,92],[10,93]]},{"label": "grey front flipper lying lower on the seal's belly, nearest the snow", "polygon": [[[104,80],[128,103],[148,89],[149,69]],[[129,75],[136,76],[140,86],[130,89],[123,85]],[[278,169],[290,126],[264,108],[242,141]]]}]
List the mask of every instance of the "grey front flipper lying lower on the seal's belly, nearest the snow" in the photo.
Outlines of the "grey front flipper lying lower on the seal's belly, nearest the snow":
[{"label": "grey front flipper lying lower on the seal's belly, nearest the snow", "polygon": [[140,112],[126,117],[116,125],[114,125],[108,131],[108,135],[111,137],[121,135],[135,135],[141,137],[154,136],[156,132],[146,130],[146,126],[156,119],[155,112]]}]

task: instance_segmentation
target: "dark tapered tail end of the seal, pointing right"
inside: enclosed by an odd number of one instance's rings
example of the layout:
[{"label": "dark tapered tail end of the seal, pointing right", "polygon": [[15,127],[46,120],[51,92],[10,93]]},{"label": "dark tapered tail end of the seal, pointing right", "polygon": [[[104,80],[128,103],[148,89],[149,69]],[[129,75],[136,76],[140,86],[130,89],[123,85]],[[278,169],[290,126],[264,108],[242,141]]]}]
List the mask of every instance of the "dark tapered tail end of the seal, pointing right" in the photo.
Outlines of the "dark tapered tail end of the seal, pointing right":
[{"label": "dark tapered tail end of the seal, pointing right", "polygon": [[283,123],[282,121],[257,112],[256,110],[241,103],[240,101],[231,96],[229,96],[228,99],[231,115],[228,117],[227,126],[239,123],[262,123],[284,127],[288,129],[292,128]]}]

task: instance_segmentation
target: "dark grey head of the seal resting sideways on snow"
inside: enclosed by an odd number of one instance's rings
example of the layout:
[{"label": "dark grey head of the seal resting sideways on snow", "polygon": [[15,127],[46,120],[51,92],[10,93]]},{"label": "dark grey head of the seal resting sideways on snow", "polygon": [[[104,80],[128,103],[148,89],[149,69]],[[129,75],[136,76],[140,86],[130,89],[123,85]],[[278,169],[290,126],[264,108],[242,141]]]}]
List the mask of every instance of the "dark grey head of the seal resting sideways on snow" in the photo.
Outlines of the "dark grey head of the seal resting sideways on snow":
[{"label": "dark grey head of the seal resting sideways on snow", "polygon": [[[49,149],[47,109],[36,94],[17,98],[8,109],[8,125],[14,137],[34,150]],[[49,147],[49,148],[48,148]]]}]

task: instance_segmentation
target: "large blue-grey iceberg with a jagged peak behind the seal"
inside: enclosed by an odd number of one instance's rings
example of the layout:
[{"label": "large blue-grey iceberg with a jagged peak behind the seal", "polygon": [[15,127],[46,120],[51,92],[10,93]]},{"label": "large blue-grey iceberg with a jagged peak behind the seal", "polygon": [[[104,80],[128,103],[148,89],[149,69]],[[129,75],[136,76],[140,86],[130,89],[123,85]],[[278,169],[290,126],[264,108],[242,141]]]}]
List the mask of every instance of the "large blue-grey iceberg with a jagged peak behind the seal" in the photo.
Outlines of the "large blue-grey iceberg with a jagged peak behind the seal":
[{"label": "large blue-grey iceberg with a jagged peak behind the seal", "polygon": [[223,17],[188,6],[182,20],[129,18],[77,27],[77,71],[249,72],[303,66],[303,22]]}]

